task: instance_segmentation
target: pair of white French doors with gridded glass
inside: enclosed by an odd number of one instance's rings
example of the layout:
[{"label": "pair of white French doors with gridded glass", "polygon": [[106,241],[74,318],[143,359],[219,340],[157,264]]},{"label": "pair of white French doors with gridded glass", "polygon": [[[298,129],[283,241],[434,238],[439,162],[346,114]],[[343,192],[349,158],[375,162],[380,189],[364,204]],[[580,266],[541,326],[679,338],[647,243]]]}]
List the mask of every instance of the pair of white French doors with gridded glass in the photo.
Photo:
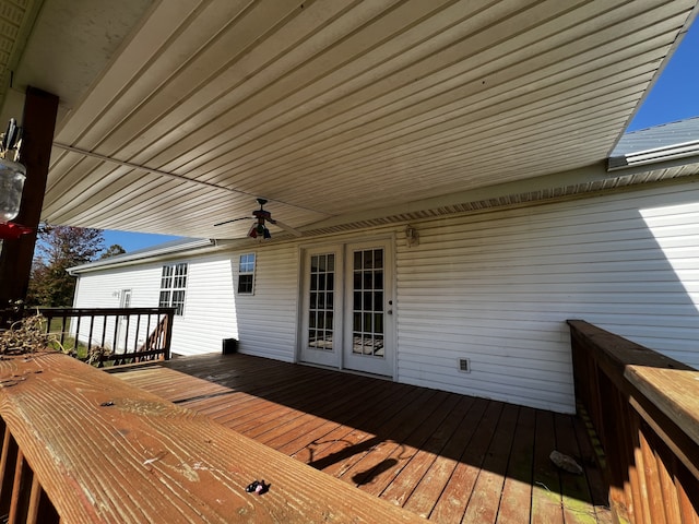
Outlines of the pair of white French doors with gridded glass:
[{"label": "pair of white French doors with gridded glass", "polygon": [[301,360],[393,376],[390,242],[305,253]]}]

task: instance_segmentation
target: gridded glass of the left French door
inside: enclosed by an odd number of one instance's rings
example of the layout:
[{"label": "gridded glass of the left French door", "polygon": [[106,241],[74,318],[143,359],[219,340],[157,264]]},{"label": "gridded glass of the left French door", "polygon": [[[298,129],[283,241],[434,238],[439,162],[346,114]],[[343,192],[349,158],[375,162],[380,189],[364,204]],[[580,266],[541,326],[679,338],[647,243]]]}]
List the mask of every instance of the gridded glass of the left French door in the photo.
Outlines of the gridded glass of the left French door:
[{"label": "gridded glass of the left French door", "polygon": [[308,346],[333,349],[333,297],[335,285],[335,255],[313,254],[310,258]]}]

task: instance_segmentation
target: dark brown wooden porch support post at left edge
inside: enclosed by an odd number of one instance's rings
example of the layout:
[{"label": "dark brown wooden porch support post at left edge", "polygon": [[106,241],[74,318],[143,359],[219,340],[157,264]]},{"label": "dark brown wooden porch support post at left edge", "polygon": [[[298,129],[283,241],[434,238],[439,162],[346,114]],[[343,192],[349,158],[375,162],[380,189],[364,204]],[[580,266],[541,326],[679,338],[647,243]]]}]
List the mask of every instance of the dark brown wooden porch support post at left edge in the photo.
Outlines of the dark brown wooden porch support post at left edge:
[{"label": "dark brown wooden porch support post at left edge", "polygon": [[[26,179],[20,213],[13,221],[33,230],[17,240],[3,240],[0,252],[0,310],[10,302],[24,300],[29,285],[36,228],[42,215],[48,176],[58,96],[27,87],[22,119],[22,156]],[[5,320],[5,319],[3,319]],[[1,325],[0,325],[1,326]]]}]

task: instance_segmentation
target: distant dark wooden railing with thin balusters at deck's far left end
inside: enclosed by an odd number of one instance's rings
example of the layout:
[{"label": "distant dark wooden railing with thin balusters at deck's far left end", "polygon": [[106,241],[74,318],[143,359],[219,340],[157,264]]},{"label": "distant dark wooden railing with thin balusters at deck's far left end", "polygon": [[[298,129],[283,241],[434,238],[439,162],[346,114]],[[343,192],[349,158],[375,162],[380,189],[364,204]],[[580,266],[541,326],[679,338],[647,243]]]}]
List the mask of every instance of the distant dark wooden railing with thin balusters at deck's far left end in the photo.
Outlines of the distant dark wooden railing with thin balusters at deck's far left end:
[{"label": "distant dark wooden railing with thin balusters at deck's far left end", "polygon": [[170,358],[175,308],[39,308],[47,332],[99,368]]}]

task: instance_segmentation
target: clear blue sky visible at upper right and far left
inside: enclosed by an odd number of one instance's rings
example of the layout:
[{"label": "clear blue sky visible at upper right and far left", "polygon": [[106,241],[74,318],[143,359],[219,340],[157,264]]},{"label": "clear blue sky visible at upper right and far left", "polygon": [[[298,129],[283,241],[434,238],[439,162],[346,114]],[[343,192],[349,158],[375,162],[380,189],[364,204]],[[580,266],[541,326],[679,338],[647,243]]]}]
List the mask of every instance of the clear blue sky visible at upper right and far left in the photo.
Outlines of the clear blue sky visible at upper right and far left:
[{"label": "clear blue sky visible at upper right and far left", "polygon": [[[650,91],[627,131],[699,116],[699,23],[694,23]],[[178,237],[104,231],[105,247],[118,243],[127,252]]]}]

